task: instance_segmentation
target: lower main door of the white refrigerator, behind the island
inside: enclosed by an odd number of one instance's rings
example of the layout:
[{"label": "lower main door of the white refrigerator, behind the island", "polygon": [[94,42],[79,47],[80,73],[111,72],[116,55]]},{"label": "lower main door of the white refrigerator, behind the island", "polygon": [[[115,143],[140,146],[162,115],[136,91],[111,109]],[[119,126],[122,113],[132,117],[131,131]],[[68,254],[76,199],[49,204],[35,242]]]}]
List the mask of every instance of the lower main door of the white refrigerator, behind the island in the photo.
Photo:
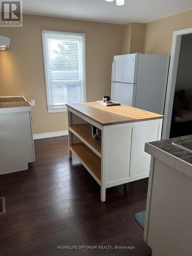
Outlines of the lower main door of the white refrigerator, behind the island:
[{"label": "lower main door of the white refrigerator, behind the island", "polygon": [[136,84],[112,82],[112,100],[135,106]]}]

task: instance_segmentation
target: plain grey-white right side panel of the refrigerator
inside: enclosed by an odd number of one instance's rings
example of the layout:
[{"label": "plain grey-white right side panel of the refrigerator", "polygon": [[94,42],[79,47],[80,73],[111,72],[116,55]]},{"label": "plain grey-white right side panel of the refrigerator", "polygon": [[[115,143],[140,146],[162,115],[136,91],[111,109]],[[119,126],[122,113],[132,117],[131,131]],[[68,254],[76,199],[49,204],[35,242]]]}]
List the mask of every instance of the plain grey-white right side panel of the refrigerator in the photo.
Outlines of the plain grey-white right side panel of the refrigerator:
[{"label": "plain grey-white right side panel of the refrigerator", "polygon": [[164,114],[169,55],[139,55],[136,108]]}]

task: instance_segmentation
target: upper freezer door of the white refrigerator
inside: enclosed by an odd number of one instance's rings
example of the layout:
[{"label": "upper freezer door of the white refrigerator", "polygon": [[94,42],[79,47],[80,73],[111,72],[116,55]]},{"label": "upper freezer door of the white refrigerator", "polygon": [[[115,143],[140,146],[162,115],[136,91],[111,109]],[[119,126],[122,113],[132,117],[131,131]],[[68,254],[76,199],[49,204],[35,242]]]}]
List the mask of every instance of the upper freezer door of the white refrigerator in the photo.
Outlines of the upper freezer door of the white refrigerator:
[{"label": "upper freezer door of the white refrigerator", "polygon": [[112,82],[136,83],[139,54],[114,56]]}]

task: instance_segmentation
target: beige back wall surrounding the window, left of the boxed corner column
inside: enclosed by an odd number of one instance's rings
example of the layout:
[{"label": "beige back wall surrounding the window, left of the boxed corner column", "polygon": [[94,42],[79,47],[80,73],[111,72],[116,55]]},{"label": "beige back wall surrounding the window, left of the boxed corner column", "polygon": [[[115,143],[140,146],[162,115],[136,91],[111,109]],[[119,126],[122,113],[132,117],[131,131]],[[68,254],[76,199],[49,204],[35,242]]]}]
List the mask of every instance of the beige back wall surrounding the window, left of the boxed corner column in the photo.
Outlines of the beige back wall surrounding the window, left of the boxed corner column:
[{"label": "beige back wall surrounding the window, left of the boxed corner column", "polygon": [[34,134],[67,130],[67,113],[48,114],[42,58],[41,29],[86,33],[87,100],[111,94],[113,56],[122,54],[123,26],[45,16],[24,15],[23,28],[0,28],[11,38],[0,53],[0,95],[35,99]]}]

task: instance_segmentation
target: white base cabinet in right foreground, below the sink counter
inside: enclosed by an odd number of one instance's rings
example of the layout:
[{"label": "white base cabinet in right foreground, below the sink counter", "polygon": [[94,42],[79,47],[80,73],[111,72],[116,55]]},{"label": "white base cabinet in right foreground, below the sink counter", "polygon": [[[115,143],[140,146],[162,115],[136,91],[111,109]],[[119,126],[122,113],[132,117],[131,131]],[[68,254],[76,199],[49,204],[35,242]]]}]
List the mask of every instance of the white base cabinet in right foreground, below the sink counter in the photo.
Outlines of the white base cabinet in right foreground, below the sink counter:
[{"label": "white base cabinet in right foreground, below the sink counter", "polygon": [[153,256],[191,256],[192,165],[150,144],[145,150],[152,161],[144,240]]}]

